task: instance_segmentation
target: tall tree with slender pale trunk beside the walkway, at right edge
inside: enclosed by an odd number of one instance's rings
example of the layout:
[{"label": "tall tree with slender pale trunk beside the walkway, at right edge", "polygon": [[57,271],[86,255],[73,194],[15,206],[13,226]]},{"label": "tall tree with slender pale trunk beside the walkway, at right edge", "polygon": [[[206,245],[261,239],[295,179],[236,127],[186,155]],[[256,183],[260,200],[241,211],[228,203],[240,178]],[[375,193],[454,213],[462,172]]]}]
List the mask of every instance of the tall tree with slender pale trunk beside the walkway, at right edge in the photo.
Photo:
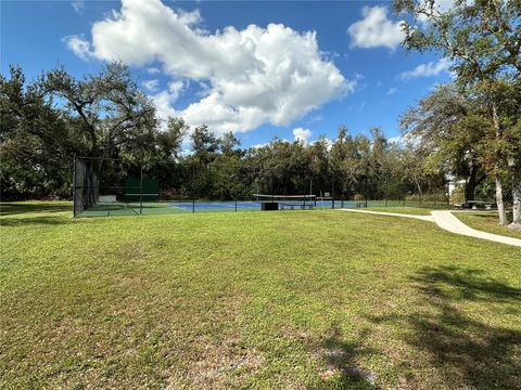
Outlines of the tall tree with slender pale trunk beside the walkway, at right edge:
[{"label": "tall tree with slender pale trunk beside the walkway, at right edge", "polygon": [[[503,182],[508,164],[500,147],[505,128],[500,120],[498,83],[521,76],[521,4],[518,0],[456,0],[441,11],[432,0],[395,0],[395,11],[407,12],[422,23],[404,23],[404,46],[409,50],[440,51],[453,61],[457,83],[466,94],[479,95],[494,129],[494,179],[499,223],[506,224]],[[427,22],[424,22],[427,20]]]}]

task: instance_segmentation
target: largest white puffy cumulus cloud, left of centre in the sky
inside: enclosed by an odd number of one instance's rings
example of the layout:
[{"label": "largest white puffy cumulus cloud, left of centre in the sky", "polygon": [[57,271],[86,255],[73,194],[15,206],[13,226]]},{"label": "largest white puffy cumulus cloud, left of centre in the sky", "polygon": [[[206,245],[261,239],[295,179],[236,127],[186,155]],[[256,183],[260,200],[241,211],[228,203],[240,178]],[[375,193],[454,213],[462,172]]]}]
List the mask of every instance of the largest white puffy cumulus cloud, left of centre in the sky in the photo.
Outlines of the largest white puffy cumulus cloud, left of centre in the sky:
[{"label": "largest white puffy cumulus cloud, left of centre in the sky", "polygon": [[314,31],[269,24],[209,34],[200,22],[198,11],[174,10],[160,0],[123,0],[119,12],[93,24],[85,49],[104,61],[157,62],[173,79],[207,84],[199,101],[180,109],[171,106],[171,91],[164,91],[160,113],[194,126],[205,122],[217,132],[288,126],[355,88],[323,57]]}]

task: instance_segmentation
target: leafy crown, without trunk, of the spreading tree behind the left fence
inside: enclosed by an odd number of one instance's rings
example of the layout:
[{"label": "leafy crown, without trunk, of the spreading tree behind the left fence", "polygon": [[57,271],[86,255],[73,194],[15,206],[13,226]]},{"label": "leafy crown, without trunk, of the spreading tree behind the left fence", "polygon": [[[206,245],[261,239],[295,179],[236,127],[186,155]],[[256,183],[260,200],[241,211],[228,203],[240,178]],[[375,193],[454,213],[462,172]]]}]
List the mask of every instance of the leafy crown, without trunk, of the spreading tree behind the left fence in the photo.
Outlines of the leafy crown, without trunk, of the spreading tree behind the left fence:
[{"label": "leafy crown, without trunk, of the spreading tree behind the left fence", "polygon": [[39,88],[42,95],[65,101],[69,126],[85,140],[89,157],[113,157],[120,150],[142,155],[158,125],[154,105],[118,62],[82,80],[63,68],[50,70],[40,78]]}]

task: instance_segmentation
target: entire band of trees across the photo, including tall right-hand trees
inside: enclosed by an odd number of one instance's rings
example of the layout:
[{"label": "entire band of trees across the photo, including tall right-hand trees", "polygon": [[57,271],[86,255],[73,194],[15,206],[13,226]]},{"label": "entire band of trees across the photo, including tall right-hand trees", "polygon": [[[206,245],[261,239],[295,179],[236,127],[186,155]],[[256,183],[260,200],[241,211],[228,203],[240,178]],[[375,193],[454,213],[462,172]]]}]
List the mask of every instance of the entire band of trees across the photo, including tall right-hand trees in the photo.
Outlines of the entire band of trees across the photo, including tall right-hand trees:
[{"label": "entire band of trees across the photo, including tall right-hand trees", "polygon": [[[379,128],[334,140],[271,140],[243,148],[232,133],[216,135],[182,118],[162,122],[153,102],[114,62],[75,78],[60,67],[27,82],[11,66],[0,76],[0,184],[3,199],[69,197],[73,156],[111,159],[161,183],[163,196],[246,198],[254,193],[353,198],[427,198],[445,193],[447,178],[465,180],[467,200],[494,197],[499,222],[505,202],[521,225],[521,29],[519,1],[396,0],[407,50],[439,51],[454,80],[439,86],[399,118],[403,142]],[[428,22],[418,23],[427,17]],[[183,153],[185,140],[191,152]]]}]

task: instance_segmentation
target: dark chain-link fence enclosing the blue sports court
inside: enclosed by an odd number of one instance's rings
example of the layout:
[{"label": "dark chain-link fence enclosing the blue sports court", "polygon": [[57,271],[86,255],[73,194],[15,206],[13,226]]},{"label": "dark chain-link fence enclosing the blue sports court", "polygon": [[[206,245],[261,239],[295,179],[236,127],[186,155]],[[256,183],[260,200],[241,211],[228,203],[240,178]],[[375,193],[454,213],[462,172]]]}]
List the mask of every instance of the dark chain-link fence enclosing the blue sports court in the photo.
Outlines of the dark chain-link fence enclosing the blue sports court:
[{"label": "dark chain-link fence enclosing the blue sports court", "polygon": [[279,177],[233,165],[154,166],[117,158],[75,157],[74,216],[110,217],[361,207],[446,207],[445,183],[352,180],[333,173]]}]

